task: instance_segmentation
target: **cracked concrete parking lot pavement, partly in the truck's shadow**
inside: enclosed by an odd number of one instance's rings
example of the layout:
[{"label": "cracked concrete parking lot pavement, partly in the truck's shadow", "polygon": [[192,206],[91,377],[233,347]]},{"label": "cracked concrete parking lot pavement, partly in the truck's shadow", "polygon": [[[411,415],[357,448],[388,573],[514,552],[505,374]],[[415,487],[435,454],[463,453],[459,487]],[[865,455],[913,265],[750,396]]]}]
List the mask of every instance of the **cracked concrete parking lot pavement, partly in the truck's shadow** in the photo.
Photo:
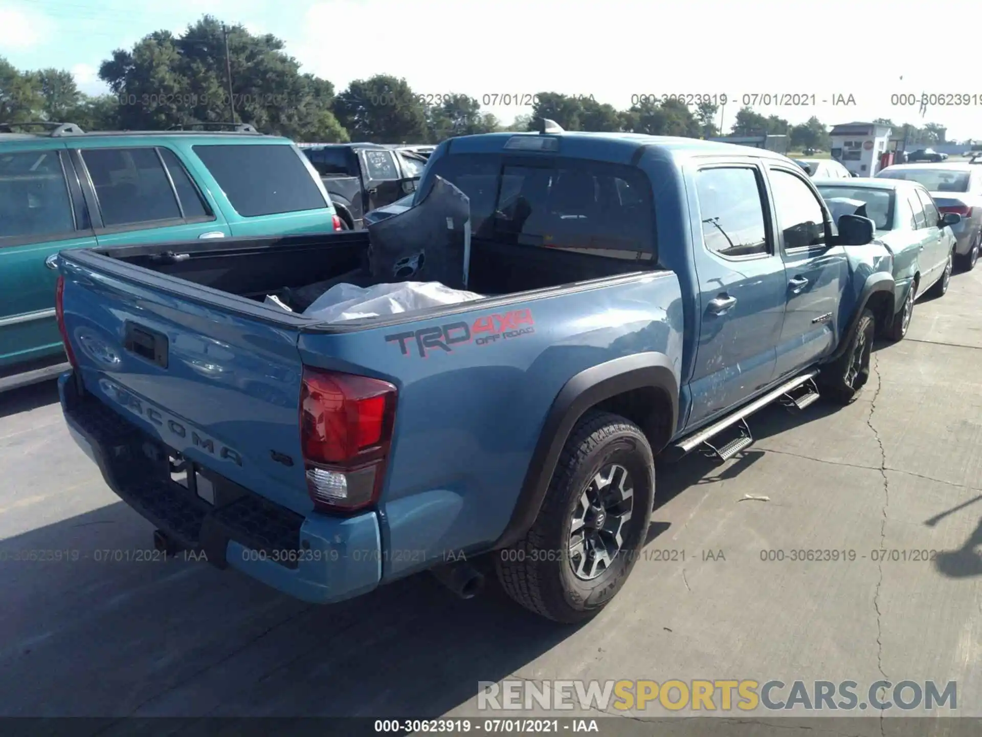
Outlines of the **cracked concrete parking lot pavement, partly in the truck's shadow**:
[{"label": "cracked concrete parking lot pavement, partly in the truck's shadow", "polygon": [[477,682],[515,676],[955,680],[959,714],[982,715],[980,299],[982,268],[918,303],[851,406],[768,409],[742,456],[660,465],[645,554],[579,628],[493,584],[462,601],[417,576],[314,607],[205,563],[96,560],[147,549],[150,525],[71,442],[53,386],[3,396],[0,713],[476,715]]}]

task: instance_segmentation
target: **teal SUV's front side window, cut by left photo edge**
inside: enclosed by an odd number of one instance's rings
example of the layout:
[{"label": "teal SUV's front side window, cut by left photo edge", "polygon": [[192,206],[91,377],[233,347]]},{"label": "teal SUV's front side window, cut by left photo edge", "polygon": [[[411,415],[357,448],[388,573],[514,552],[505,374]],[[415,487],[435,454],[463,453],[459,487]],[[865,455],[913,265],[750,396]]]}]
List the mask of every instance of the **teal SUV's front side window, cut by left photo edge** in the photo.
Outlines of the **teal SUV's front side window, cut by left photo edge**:
[{"label": "teal SUV's front side window, cut by left photo edge", "polygon": [[74,230],[58,152],[0,154],[0,239],[70,234]]}]

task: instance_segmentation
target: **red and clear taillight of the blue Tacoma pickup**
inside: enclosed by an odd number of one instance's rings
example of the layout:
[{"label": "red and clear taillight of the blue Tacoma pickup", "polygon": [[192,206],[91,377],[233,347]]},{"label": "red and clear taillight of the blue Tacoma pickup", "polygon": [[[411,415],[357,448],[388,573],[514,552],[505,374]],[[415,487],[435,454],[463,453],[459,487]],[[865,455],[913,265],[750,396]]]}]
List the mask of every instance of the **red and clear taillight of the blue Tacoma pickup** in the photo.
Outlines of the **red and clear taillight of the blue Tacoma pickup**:
[{"label": "red and clear taillight of the blue Tacoma pickup", "polygon": [[304,367],[300,447],[307,492],[316,509],[351,512],[378,501],[396,395],[388,381]]}]

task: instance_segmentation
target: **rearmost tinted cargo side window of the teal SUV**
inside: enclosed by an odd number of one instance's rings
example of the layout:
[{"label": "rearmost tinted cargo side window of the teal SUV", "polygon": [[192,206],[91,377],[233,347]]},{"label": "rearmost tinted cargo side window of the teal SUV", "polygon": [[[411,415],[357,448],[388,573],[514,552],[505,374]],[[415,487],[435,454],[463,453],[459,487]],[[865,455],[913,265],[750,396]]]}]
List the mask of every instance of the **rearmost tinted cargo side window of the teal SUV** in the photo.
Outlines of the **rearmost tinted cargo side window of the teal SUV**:
[{"label": "rearmost tinted cargo side window of the teal SUV", "polygon": [[243,217],[327,207],[293,146],[195,145],[194,153]]}]

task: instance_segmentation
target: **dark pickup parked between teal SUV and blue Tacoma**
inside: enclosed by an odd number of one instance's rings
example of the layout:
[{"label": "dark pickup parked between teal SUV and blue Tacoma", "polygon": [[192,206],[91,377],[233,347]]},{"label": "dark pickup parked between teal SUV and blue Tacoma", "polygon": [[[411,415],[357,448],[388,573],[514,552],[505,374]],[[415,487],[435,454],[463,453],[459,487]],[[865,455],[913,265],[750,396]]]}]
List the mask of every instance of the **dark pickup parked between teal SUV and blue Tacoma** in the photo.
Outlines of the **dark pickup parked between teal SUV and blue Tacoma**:
[{"label": "dark pickup parked between teal SUV and blue Tacoma", "polygon": [[323,143],[300,150],[320,174],[346,230],[364,227],[364,213],[415,190],[427,157],[412,146]]}]

